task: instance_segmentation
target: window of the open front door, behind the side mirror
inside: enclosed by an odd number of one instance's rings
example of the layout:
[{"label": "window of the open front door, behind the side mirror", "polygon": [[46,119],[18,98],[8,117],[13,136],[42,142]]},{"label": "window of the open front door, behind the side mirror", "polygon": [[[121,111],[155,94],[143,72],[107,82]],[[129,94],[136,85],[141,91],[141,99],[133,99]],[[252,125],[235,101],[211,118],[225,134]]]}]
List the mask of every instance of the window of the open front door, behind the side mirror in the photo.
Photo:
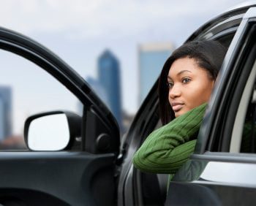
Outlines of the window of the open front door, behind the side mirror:
[{"label": "window of the open front door, behind the side mirror", "polygon": [[[77,97],[36,64],[0,50],[0,149],[26,149],[23,126],[39,112],[82,115]],[[56,123],[57,124],[57,123]]]}]

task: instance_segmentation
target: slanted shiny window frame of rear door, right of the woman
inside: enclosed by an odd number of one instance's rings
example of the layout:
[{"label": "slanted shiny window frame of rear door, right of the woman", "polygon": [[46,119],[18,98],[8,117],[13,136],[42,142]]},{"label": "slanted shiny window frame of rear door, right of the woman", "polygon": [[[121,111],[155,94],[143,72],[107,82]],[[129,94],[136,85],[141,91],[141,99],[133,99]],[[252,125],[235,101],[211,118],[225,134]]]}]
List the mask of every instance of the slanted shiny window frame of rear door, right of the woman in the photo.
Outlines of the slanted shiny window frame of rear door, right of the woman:
[{"label": "slanted shiny window frame of rear door, right of the woman", "polygon": [[[249,9],[247,12],[254,12]],[[222,68],[217,78],[216,86],[214,87],[211,100],[208,103],[208,109],[206,110],[205,118],[203,119],[202,126],[198,135],[197,145],[195,148],[196,154],[202,154],[206,150],[208,151],[228,151],[229,140],[219,140],[224,137],[224,133],[227,137],[228,127],[233,126],[232,118],[231,122],[227,125],[222,123],[227,118],[227,111],[230,110],[230,99],[232,99],[233,92],[233,80],[237,77],[239,72],[239,61],[243,53],[246,52],[244,47],[245,42],[248,41],[248,32],[252,23],[255,20],[249,18],[248,15],[244,15],[238,30],[230,44],[227,54],[222,64]],[[250,37],[250,36],[249,36]],[[237,80],[236,80],[237,81]],[[241,94],[240,94],[241,95]],[[238,107],[235,106],[236,109]],[[235,107],[232,107],[234,109]],[[221,108],[221,110],[219,109]],[[235,110],[236,110],[235,109]],[[225,139],[225,138],[224,138]],[[220,144],[219,144],[220,143]]]}]

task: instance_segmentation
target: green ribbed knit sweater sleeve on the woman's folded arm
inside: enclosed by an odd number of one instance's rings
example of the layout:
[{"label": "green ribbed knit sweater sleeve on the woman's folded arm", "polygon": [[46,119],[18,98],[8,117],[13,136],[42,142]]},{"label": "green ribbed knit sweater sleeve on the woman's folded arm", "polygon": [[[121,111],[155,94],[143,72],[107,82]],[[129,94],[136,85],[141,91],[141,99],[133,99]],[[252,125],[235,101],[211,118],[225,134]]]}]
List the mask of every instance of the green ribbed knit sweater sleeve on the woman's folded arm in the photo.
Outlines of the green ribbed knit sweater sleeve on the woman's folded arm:
[{"label": "green ribbed knit sweater sleeve on the woman's folded arm", "polygon": [[133,164],[143,172],[176,172],[195,150],[206,103],[153,131],[133,156]]}]

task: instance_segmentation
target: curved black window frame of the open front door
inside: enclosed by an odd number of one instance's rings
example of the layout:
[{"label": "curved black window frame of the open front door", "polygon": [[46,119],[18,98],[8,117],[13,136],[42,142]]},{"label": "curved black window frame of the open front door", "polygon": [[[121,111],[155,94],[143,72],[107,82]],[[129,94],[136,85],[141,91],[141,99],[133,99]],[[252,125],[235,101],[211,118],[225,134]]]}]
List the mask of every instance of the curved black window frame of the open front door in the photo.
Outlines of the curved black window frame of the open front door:
[{"label": "curved black window frame of the open front door", "polygon": [[[86,81],[78,75],[78,72],[75,72],[71,66],[48,50],[48,48],[23,34],[7,28],[0,27],[0,49],[14,53],[37,64],[40,69],[48,72],[80,100],[83,104],[81,150],[87,150],[91,146],[92,149],[88,151],[94,153],[98,144],[96,141],[97,135],[104,129],[105,134],[110,134],[108,139],[111,145],[113,145],[116,156],[118,155],[120,132],[116,118],[114,118],[105,103],[94,94],[94,91],[92,91]],[[91,130],[89,131],[89,129]],[[110,148],[112,150],[112,147]]]}]

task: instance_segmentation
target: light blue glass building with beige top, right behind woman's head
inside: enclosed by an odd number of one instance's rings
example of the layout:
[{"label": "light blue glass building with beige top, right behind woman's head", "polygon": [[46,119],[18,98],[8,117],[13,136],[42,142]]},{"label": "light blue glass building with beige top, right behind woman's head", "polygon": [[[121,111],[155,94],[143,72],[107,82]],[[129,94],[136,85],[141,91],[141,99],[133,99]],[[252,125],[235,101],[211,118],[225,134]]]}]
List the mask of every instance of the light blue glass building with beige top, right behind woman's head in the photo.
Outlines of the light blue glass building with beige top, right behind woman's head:
[{"label": "light blue glass building with beige top, right behind woman's head", "polygon": [[156,82],[162,66],[173,50],[174,46],[170,43],[139,45],[139,105],[146,98],[150,88]]}]

